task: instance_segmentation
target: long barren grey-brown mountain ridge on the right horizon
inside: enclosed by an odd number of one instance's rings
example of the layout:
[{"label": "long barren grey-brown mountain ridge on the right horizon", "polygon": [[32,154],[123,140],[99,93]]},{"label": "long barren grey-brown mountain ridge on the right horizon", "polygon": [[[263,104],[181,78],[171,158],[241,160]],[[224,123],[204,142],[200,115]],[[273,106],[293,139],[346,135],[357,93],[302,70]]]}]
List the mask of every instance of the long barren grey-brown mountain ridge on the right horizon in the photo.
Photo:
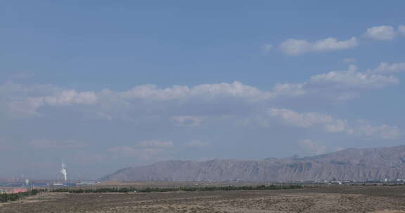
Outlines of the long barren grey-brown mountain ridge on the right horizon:
[{"label": "long barren grey-brown mountain ridge on the right horizon", "polygon": [[101,180],[116,181],[314,181],[405,179],[405,146],[345,149],[305,158],[169,160],[128,167]]}]

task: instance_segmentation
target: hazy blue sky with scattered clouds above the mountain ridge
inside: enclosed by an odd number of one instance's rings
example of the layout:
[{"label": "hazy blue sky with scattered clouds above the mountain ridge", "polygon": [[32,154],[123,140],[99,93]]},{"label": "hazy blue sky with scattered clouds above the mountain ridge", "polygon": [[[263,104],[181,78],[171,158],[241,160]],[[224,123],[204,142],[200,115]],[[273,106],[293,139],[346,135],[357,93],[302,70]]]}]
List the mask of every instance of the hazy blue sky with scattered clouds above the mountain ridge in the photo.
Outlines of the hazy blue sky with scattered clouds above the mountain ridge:
[{"label": "hazy blue sky with scattered clouds above the mountain ridge", "polygon": [[405,133],[405,1],[1,1],[0,179]]}]

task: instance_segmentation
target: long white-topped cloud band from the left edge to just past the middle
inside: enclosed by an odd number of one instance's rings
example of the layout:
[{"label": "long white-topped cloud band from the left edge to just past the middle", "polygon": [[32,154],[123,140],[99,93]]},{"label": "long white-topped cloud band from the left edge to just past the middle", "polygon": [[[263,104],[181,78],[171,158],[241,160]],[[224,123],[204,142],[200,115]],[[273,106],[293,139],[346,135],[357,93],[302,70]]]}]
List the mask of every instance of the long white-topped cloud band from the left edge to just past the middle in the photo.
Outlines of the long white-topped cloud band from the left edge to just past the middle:
[{"label": "long white-topped cloud band from the left edge to just past the middle", "polygon": [[[140,85],[130,90],[116,92],[101,90],[100,92],[63,90],[57,87],[35,87],[7,83],[0,85],[0,114],[17,117],[41,116],[41,107],[76,107],[86,110],[87,114],[94,114],[97,118],[124,118],[127,114],[150,116],[167,111],[173,116],[178,125],[199,125],[203,117],[182,116],[179,113],[201,113],[210,111],[215,113],[224,103],[235,104],[255,103],[273,97],[273,92],[259,90],[238,81],[233,83],[217,83],[195,85],[193,87],[175,85],[169,88],[158,88],[156,85]],[[165,102],[166,104],[158,104]],[[215,107],[199,107],[200,104]],[[183,109],[174,111],[175,109]]]}]

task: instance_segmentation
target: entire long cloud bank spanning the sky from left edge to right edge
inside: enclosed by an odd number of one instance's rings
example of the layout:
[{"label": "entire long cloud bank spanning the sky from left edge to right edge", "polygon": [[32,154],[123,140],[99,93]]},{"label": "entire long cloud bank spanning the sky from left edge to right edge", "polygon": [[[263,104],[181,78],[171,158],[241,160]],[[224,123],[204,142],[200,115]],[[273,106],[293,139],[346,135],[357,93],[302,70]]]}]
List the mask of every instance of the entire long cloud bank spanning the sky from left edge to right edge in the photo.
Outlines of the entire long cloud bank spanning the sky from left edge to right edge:
[{"label": "entire long cloud bank spanning the sky from left edge to right edge", "polygon": [[174,125],[196,127],[210,116],[247,114],[271,102],[307,102],[304,98],[323,102],[346,101],[358,97],[361,90],[399,83],[393,74],[403,71],[404,67],[404,63],[381,63],[374,69],[361,72],[350,65],[347,70],[311,76],[302,83],[276,83],[271,90],[260,90],[238,81],[168,88],[139,85],[122,92],[6,83],[0,86],[0,114],[30,117],[40,116],[41,107],[75,107],[75,110],[98,119],[119,118],[139,123],[145,119],[159,120],[163,116],[170,118]]}]

